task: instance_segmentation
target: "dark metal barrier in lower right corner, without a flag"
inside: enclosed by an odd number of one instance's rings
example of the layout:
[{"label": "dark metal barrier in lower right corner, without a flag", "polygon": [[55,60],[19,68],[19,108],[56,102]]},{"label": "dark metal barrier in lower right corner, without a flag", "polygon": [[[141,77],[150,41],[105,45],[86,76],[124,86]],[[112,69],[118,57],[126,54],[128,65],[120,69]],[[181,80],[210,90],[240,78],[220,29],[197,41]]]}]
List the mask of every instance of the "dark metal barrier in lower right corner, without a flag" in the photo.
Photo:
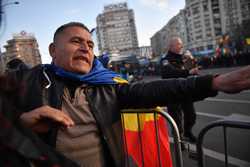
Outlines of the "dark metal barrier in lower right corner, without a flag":
[{"label": "dark metal barrier in lower right corner, without a flag", "polygon": [[197,158],[198,158],[198,166],[205,167],[204,162],[204,153],[202,149],[203,139],[207,132],[215,127],[222,127],[223,128],[223,137],[224,137],[224,153],[225,153],[225,167],[228,167],[228,148],[227,148],[227,128],[240,128],[240,129],[248,129],[250,130],[250,120],[249,121],[241,121],[234,119],[233,116],[226,117],[225,119],[214,121],[204,127],[198,136],[197,141]]}]

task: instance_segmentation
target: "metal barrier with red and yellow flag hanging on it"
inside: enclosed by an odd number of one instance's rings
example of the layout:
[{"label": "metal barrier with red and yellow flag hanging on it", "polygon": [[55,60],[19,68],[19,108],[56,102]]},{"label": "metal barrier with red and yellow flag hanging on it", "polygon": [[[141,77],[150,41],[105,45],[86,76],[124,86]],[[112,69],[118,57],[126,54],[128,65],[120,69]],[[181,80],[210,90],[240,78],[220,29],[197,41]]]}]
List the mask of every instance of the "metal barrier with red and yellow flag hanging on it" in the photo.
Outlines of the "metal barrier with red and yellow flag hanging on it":
[{"label": "metal barrier with red and yellow flag hanging on it", "polygon": [[[157,108],[154,108],[154,109],[125,109],[125,110],[122,110],[122,115],[123,114],[136,114],[137,116],[137,121],[139,121],[139,115],[140,114],[154,114],[154,118],[156,119],[157,118],[157,115],[161,115],[165,121],[170,125],[170,128],[168,130],[168,133],[172,132],[172,135],[173,135],[173,141],[174,141],[174,150],[171,150],[171,154],[174,152],[174,155],[171,155],[172,157],[172,160],[174,160],[175,162],[175,166],[176,167],[183,167],[183,158],[182,158],[182,151],[181,151],[181,140],[180,140],[180,135],[179,135],[179,130],[178,130],[178,127],[175,123],[175,121],[173,120],[173,118],[166,112],[164,111],[162,108],[160,107],[157,107]],[[122,123],[123,123],[123,126],[124,126],[124,118],[122,116]],[[156,124],[156,121],[154,121],[154,123]],[[157,127],[155,125],[155,127]],[[138,127],[140,129],[140,127]],[[139,137],[140,137],[140,134],[138,134]],[[156,138],[158,140],[158,130],[156,129]],[[169,135],[169,134],[168,134]],[[140,140],[143,140],[142,138],[140,138]],[[125,144],[126,144],[126,141],[125,141]],[[158,145],[158,150],[157,150],[157,154],[158,154],[158,160],[160,161],[160,156],[159,155],[159,143],[157,141],[157,145]],[[141,152],[141,154],[143,154],[143,152]],[[146,162],[143,162],[143,164],[145,164]],[[143,165],[144,166],[144,165]],[[161,164],[160,164],[161,166]]]}]

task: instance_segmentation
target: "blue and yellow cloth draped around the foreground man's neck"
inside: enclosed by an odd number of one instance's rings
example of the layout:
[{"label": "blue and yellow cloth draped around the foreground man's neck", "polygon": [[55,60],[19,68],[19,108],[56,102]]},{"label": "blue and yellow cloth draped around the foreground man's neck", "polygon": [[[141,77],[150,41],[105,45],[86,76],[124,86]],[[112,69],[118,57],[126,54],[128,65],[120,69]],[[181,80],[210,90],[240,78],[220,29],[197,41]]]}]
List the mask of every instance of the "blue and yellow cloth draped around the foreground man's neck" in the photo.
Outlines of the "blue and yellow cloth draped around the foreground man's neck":
[{"label": "blue and yellow cloth draped around the foreground man's neck", "polygon": [[54,64],[45,64],[44,66],[62,78],[68,78],[86,84],[101,85],[127,83],[126,80],[121,79],[119,74],[104,68],[97,58],[94,59],[93,67],[90,72],[84,75],[65,71]]}]

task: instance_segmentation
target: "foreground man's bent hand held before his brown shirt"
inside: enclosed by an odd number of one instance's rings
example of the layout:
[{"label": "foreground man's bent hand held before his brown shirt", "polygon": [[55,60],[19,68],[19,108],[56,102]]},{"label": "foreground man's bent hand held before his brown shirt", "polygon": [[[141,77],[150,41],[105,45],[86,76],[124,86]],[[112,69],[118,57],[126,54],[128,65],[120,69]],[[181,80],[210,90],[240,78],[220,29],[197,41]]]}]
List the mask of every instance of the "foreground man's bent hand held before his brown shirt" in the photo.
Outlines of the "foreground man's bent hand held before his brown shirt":
[{"label": "foreground man's bent hand held before his brown shirt", "polygon": [[20,121],[24,126],[39,133],[47,132],[52,123],[61,124],[63,127],[74,125],[74,122],[68,115],[49,106],[42,106],[23,113],[20,116]]}]

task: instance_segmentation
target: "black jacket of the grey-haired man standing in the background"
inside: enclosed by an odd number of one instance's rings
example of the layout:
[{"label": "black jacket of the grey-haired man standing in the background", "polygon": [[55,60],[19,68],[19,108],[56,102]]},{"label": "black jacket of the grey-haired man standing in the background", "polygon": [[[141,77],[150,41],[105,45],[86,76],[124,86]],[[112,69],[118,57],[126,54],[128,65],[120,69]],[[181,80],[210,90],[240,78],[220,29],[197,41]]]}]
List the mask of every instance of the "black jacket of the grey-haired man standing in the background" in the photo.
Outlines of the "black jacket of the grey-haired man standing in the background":
[{"label": "black jacket of the grey-haired man standing in the background", "polygon": [[162,78],[186,78],[189,75],[189,70],[184,68],[182,55],[168,51],[161,59]]}]

